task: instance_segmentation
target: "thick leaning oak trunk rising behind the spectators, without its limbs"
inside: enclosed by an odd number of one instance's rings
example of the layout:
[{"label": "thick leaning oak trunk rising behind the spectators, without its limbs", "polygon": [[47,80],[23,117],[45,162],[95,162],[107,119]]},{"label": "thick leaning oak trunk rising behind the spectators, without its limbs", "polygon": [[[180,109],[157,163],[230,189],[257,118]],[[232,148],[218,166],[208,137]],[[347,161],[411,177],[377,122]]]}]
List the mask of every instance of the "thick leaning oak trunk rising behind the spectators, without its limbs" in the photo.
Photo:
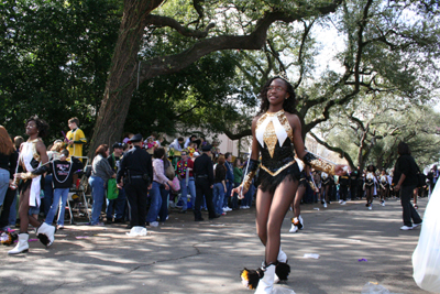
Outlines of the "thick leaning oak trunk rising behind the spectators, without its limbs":
[{"label": "thick leaning oak trunk rising behind the spectators, without its limbs", "polygon": [[163,0],[124,1],[124,13],[94,137],[90,140],[89,156],[94,155],[100,144],[111,145],[121,141],[131,97],[136,88],[138,53],[146,25],[145,15],[162,2]]}]

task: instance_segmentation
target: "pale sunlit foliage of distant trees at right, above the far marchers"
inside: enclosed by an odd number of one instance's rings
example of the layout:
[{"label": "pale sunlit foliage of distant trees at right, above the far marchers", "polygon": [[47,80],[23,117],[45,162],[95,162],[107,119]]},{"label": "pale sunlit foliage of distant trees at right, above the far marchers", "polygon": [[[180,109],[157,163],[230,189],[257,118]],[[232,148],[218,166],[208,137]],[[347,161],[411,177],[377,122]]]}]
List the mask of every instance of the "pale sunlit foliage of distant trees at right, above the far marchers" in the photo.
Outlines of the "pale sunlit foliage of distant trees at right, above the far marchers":
[{"label": "pale sunlit foliage of distant trees at right, above the far marchers", "polygon": [[439,161],[439,113],[429,106],[405,104],[398,97],[371,98],[340,110],[339,116],[318,128],[330,145],[341,148],[354,165],[361,166],[393,167],[400,141],[409,144],[420,166]]}]

